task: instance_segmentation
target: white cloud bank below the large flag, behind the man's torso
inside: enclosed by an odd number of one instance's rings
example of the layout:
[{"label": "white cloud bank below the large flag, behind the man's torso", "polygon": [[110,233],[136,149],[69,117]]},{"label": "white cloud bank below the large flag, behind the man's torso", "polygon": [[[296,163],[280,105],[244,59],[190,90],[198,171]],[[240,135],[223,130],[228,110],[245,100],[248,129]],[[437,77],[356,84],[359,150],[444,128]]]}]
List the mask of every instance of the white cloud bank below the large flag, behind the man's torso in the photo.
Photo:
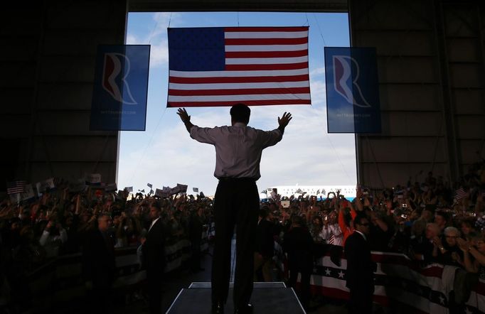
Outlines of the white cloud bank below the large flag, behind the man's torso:
[{"label": "white cloud bank below the large flag, behind the man's torso", "polygon": [[[252,107],[250,125],[260,129],[274,129],[277,127],[277,116],[281,117],[284,111],[292,112],[293,119],[282,141],[263,151],[262,178],[258,181],[260,190],[274,185],[296,183],[354,184],[356,169],[353,135],[326,134],[323,108]],[[227,125],[230,121],[228,112],[229,108],[188,109],[191,120],[199,126]],[[174,109],[170,109],[166,114],[176,113]],[[215,193],[217,180],[213,178],[214,148],[190,139],[181,122],[176,126],[162,126],[146,149],[146,154],[137,169],[129,167],[134,161],[140,160],[143,150],[144,147],[132,151],[127,157],[121,154],[120,183],[132,181],[132,184],[143,187],[146,185],[144,180],[147,180],[158,188],[162,185],[174,186],[176,183],[183,183],[189,185],[189,190],[197,187],[206,195]],[[133,178],[129,178],[130,176]]]}]

